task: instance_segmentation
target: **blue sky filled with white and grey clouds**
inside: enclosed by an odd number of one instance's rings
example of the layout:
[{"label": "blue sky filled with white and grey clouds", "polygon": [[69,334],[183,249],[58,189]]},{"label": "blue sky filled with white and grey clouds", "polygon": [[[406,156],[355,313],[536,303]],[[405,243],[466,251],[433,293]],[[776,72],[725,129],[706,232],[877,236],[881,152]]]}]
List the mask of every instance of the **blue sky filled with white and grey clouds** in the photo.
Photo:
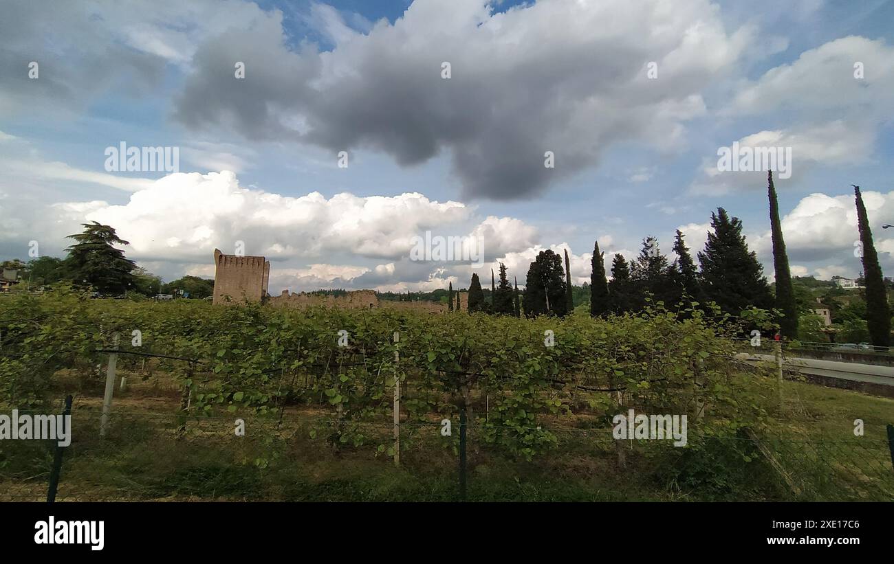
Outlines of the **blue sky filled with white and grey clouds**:
[{"label": "blue sky filled with white and grey clouds", "polygon": [[[0,0],[0,14],[0,259],[32,242],[63,256],[97,220],[165,280],[213,276],[215,247],[242,242],[271,261],[272,294],[468,286],[466,262],[410,260],[430,230],[480,237],[484,271],[502,261],[521,283],[539,250],[569,248],[581,283],[595,240],[610,263],[645,236],[670,252],[680,228],[695,253],[722,206],[772,279],[765,174],[717,170],[738,141],[791,147],[776,187],[793,274],[859,272],[851,184],[894,272],[894,2]],[[122,143],[178,147],[180,172],[107,170]]]}]

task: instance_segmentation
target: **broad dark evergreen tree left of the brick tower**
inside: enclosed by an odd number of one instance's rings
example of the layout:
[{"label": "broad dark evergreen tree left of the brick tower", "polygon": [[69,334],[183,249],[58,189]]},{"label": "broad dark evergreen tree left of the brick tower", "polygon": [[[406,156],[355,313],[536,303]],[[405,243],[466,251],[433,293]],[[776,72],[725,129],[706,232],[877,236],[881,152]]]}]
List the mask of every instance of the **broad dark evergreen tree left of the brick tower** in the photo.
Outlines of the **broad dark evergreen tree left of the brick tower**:
[{"label": "broad dark evergreen tree left of the brick tower", "polygon": [[97,221],[82,223],[84,232],[70,235],[75,244],[65,249],[65,269],[76,284],[93,286],[103,294],[123,294],[133,288],[136,263],[112,245],[130,245],[114,228]]}]

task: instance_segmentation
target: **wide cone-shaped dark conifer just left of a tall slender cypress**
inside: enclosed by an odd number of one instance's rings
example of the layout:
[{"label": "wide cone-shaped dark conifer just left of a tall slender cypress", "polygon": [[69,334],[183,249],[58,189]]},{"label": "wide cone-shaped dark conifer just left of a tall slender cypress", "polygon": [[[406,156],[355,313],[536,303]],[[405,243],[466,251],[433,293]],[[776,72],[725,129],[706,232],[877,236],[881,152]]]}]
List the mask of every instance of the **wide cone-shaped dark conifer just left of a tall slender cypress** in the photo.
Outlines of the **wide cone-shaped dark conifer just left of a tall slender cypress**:
[{"label": "wide cone-shaped dark conifer just left of a tall slender cypress", "polygon": [[711,213],[711,227],[704,253],[698,253],[704,294],[731,315],[739,315],[751,306],[770,309],[770,286],[757,256],[748,250],[742,221],[717,208]]}]

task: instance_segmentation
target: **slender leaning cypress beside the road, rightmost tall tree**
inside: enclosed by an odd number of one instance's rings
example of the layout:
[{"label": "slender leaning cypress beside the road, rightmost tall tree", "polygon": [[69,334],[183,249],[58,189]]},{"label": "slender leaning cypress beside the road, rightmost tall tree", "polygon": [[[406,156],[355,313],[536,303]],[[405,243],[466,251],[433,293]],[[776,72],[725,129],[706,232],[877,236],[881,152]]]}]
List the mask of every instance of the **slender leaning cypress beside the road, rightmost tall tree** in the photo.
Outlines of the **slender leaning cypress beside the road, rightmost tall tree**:
[{"label": "slender leaning cypress beside the road, rightmost tall tree", "polygon": [[875,252],[873,231],[869,228],[869,218],[860,187],[854,186],[856,196],[856,225],[860,230],[860,244],[863,247],[863,275],[866,285],[866,324],[874,346],[890,344],[891,317],[888,307],[888,293],[881,276],[879,255]]}]

